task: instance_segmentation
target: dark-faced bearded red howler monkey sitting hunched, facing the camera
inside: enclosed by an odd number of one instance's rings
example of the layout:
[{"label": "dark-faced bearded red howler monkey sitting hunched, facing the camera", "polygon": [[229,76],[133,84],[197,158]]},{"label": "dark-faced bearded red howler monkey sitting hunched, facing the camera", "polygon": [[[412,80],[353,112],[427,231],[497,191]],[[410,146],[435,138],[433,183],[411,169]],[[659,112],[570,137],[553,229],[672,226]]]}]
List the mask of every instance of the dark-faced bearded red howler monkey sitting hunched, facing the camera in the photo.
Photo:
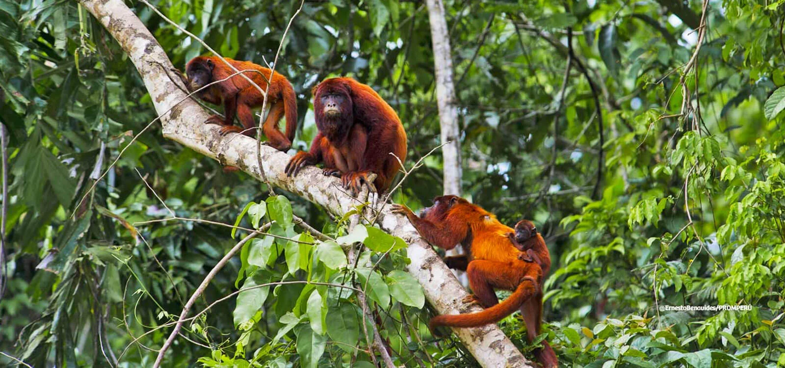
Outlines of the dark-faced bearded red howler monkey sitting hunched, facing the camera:
[{"label": "dark-faced bearded red howler monkey sitting hunched, facing the camera", "polygon": [[[324,162],[324,175],[341,177],[341,184],[352,195],[363,185],[371,191],[386,191],[400,162],[406,160],[406,132],[396,112],[371,87],[352,78],[329,78],[313,91],[319,133],[311,151],[298,152],[290,159],[287,176]],[[367,180],[370,173],[376,174],[373,183]]]}]

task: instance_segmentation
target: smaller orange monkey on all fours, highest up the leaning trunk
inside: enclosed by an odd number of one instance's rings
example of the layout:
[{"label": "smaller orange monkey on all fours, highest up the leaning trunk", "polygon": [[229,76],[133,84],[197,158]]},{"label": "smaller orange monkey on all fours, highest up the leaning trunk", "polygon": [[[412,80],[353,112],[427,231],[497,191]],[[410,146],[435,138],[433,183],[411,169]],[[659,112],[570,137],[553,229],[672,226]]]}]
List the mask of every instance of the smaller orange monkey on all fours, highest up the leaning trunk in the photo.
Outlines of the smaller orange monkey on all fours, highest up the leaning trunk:
[{"label": "smaller orange monkey on all fours, highest up the leaning trunk", "polygon": [[[232,64],[238,71],[245,71],[243,75],[254,81],[261,90],[267,90],[267,79],[270,78],[270,70],[249,61],[232,60],[225,57],[229,64]],[[258,71],[258,72],[257,72]],[[188,77],[188,89],[195,91],[207,86],[211,82],[220,81],[234,75],[231,67],[228,67],[217,56],[196,56],[185,66],[185,75]],[[197,96],[210,104],[224,104],[225,118],[218,115],[210,116],[207,123],[220,124],[221,135],[230,132],[243,132],[250,137],[254,134],[254,113],[251,109],[261,107],[265,97],[259,90],[248,82],[242,75],[234,75],[223,82],[218,82],[203,89]],[[277,72],[272,75],[272,82],[268,91],[268,101],[270,112],[261,127],[265,133],[268,144],[279,151],[287,151],[294,140],[294,132],[297,129],[297,96],[291,83],[283,75]],[[243,123],[243,128],[234,125],[235,115]],[[287,118],[286,135],[278,129],[278,122],[283,115]]]}]

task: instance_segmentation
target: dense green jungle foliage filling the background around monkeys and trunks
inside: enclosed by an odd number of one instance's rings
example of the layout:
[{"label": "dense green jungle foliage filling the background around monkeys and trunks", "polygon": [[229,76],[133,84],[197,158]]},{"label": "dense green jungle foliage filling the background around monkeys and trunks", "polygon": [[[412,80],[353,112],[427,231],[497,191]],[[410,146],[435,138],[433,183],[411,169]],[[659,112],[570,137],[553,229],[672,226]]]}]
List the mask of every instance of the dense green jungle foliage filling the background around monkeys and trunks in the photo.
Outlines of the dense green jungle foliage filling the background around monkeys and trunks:
[{"label": "dense green jungle foliage filling the background around monkeys and trunks", "polygon": [[[445,3],[465,196],[546,235],[543,337],[562,363],[785,364],[783,0],[714,1],[705,13],[680,3]],[[178,67],[205,53],[144,3],[129,5]],[[154,5],[224,56],[261,64],[300,2]],[[423,324],[430,312],[400,239],[371,226],[349,233],[346,218],[268,196],[163,139],[158,123],[129,145],[155,110],[77,2],[0,2],[0,65],[10,155],[0,352],[33,366],[151,366],[171,330],[156,327],[247,235],[194,219],[275,220],[207,287],[191,316],[209,309],[185,323],[166,366],[372,366],[374,321],[363,326],[352,288],[367,290],[396,363],[476,364]],[[407,166],[440,144],[421,1],[305,2],[276,70],[298,93],[300,149],[315,134],[310,89],[334,75],[373,86],[398,111]],[[440,171],[436,151],[393,200],[428,206]],[[357,267],[345,253],[355,242]],[[663,310],[722,304],[752,308]],[[517,315],[501,326],[531,351]]]}]

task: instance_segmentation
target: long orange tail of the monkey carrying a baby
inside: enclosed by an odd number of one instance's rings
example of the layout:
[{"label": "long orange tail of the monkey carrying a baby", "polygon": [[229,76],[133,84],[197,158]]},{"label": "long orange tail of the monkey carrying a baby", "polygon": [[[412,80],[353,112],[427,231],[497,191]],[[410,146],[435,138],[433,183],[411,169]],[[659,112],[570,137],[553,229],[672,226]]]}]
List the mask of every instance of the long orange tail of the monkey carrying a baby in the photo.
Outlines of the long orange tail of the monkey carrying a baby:
[{"label": "long orange tail of the monkey carrying a baby", "polygon": [[536,293],[536,286],[531,280],[520,282],[517,289],[504,301],[486,308],[483,312],[466,315],[437,315],[428,323],[431,330],[436,326],[476,327],[495,323],[513,314],[521,304]]}]

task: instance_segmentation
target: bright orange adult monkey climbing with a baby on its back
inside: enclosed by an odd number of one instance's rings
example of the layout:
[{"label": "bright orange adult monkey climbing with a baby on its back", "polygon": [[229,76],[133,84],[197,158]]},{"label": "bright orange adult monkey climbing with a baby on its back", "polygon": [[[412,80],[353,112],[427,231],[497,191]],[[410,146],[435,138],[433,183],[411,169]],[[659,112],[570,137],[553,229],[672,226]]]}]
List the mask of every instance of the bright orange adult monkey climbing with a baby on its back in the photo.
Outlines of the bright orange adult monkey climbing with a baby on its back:
[{"label": "bright orange adult monkey climbing with a baby on its back", "polygon": [[[507,234],[512,228],[496,220],[495,215],[455,195],[433,200],[433,206],[418,217],[406,206],[392,205],[392,212],[403,213],[425,240],[451,250],[461,243],[466,255],[447,257],[451,268],[465,268],[474,295],[464,300],[486,308],[465,315],[437,315],[429,322],[436,326],[475,327],[495,323],[520,308],[526,323],[528,341],[540,333],[542,318],[542,270],[538,264],[518,259],[520,252]],[[539,235],[536,235],[539,236]],[[513,293],[501,303],[494,289]],[[535,356],[545,367],[556,367],[556,353],[547,341],[535,349]]]}]

